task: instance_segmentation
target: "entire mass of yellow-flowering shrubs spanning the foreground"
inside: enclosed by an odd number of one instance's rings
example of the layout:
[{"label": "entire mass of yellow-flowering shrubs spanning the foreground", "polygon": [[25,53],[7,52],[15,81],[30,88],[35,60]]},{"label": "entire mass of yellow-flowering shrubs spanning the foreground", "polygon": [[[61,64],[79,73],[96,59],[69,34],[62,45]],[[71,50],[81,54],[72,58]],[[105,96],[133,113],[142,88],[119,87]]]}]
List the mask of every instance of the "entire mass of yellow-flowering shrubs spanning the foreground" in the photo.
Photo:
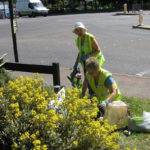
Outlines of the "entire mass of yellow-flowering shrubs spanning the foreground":
[{"label": "entire mass of yellow-flowering shrubs spanning the foreground", "polygon": [[11,140],[12,149],[119,149],[116,127],[95,119],[97,99],[80,98],[80,89],[65,95],[60,103],[38,74],[9,81],[0,88],[1,138]]}]

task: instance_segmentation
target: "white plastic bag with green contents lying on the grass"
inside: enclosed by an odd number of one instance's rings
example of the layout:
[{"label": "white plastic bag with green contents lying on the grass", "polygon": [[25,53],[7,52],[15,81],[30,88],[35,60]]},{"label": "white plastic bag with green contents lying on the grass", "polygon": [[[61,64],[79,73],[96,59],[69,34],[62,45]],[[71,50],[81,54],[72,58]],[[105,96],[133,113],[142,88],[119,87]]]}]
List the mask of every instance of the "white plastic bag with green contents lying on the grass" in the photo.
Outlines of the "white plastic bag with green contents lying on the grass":
[{"label": "white plastic bag with green contents lying on the grass", "polygon": [[142,117],[128,117],[128,129],[137,132],[150,133],[150,112],[143,112]]}]

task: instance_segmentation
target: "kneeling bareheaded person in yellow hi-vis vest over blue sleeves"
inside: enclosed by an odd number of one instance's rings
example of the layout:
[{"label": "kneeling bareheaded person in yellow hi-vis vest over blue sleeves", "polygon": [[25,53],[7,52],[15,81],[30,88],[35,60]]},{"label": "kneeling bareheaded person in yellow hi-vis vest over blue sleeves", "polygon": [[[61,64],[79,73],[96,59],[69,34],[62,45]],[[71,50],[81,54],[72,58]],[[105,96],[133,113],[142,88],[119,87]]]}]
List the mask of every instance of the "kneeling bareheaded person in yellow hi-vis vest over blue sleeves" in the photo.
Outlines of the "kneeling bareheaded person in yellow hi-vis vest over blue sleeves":
[{"label": "kneeling bareheaded person in yellow hi-vis vest over blue sleeves", "polygon": [[85,96],[86,89],[90,85],[98,99],[98,108],[102,115],[104,108],[112,101],[121,100],[120,90],[112,77],[112,74],[99,66],[96,58],[86,60],[86,78],[83,82],[82,96]]}]

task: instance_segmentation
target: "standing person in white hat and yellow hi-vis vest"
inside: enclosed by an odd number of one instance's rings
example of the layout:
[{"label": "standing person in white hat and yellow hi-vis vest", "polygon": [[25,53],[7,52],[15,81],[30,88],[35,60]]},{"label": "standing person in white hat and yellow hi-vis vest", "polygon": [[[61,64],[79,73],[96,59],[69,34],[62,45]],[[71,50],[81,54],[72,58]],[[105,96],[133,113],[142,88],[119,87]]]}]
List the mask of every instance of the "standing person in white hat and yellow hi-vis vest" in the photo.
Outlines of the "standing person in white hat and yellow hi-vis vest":
[{"label": "standing person in white hat and yellow hi-vis vest", "polygon": [[[75,42],[79,50],[78,56],[77,56],[77,59],[73,68],[76,69],[78,66],[78,63],[80,62],[84,71],[84,75],[85,75],[86,74],[85,61],[89,57],[97,58],[99,62],[99,66],[102,66],[105,59],[94,35],[87,32],[87,29],[85,28],[82,22],[77,22],[75,24],[73,33],[75,33],[78,36]],[[93,94],[90,86],[89,86],[89,94],[90,95]]]}]

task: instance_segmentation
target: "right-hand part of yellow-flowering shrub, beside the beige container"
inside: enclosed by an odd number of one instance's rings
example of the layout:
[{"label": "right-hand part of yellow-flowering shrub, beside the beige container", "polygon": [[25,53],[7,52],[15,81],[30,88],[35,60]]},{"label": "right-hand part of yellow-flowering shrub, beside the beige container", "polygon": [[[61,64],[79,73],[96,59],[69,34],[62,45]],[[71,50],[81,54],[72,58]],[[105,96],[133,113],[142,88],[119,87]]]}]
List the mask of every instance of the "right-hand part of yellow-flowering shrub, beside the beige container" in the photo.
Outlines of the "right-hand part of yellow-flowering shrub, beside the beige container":
[{"label": "right-hand part of yellow-flowering shrub, beside the beige container", "polygon": [[[81,90],[66,89],[65,101],[59,104],[58,111],[63,114],[58,129],[62,132],[65,146],[70,149],[118,149],[119,133],[116,127],[97,117],[97,99],[80,98]],[[64,148],[65,149],[65,148]]]}]

